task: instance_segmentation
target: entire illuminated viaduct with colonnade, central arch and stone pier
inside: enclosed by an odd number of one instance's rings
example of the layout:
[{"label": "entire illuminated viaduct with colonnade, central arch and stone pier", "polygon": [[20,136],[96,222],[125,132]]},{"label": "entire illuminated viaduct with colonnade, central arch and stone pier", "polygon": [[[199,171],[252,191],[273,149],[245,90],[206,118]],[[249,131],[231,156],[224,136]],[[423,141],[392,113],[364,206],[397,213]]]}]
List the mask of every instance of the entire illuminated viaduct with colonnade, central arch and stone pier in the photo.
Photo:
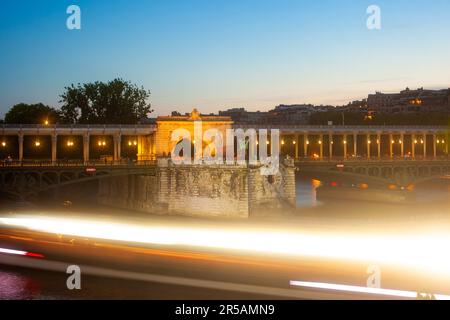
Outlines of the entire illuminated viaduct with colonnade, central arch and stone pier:
[{"label": "entire illuminated viaduct with colonnade, central arch and stone pier", "polygon": [[[280,173],[260,166],[175,166],[167,160],[174,130],[280,130]],[[200,139],[201,140],[201,139]],[[270,141],[270,139],[269,139]],[[258,141],[256,141],[258,143]],[[450,175],[449,131],[437,126],[267,126],[229,117],[159,117],[142,125],[2,125],[0,191],[27,196],[99,180],[99,201],[142,211],[249,216],[260,206],[295,203],[301,172],[369,178],[407,186]],[[202,148],[205,141],[192,141]],[[267,145],[270,150],[270,142]],[[236,190],[240,190],[238,193]],[[203,212],[202,208],[206,208]]]}]

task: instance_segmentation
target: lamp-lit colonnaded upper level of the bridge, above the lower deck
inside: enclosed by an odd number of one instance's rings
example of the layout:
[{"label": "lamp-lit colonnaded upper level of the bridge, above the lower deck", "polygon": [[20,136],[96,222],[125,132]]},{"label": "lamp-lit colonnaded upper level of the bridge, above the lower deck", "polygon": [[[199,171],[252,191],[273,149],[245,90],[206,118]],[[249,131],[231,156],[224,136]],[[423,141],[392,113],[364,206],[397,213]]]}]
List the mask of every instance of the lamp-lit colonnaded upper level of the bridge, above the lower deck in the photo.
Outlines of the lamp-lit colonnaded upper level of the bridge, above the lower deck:
[{"label": "lamp-lit colonnaded upper level of the bridge, above the lower deck", "polygon": [[[4,124],[0,127],[0,159],[154,160],[167,155],[174,128],[192,127],[198,121],[160,118],[157,124],[148,125]],[[222,118],[200,120],[222,130],[279,129],[281,155],[294,159],[425,160],[449,156],[449,128],[445,126],[248,126]]]}]

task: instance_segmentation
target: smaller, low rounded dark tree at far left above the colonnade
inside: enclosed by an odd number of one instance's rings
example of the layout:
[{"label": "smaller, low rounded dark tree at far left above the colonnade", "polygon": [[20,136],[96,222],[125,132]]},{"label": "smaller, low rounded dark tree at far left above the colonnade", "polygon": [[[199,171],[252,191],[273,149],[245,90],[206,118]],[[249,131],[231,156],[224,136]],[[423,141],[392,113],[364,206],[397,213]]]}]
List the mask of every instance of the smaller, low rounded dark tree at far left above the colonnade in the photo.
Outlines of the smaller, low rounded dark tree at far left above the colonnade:
[{"label": "smaller, low rounded dark tree at far left above the colonnade", "polygon": [[59,120],[59,112],[55,108],[42,103],[19,103],[13,106],[5,115],[5,123],[13,124],[44,124],[56,123]]}]

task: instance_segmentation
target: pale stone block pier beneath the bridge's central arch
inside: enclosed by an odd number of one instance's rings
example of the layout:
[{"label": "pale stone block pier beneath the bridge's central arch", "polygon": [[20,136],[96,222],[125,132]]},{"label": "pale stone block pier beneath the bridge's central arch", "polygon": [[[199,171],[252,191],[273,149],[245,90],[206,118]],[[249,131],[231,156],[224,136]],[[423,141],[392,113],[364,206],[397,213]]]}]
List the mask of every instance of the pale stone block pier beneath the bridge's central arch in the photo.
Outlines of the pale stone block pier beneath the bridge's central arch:
[{"label": "pale stone block pier beneath the bridge's central arch", "polygon": [[248,218],[263,209],[294,207],[295,167],[280,164],[264,176],[261,166],[174,165],[159,159],[154,173],[111,177],[99,184],[103,205],[149,213]]}]

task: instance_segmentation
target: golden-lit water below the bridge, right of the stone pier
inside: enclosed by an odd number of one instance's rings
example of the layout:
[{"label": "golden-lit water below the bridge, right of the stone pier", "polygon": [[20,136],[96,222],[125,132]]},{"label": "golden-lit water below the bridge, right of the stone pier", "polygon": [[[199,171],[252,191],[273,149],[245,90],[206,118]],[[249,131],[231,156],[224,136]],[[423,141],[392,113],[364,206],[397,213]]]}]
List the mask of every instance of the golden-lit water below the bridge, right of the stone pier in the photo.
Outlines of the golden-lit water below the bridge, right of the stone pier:
[{"label": "golden-lit water below the bridge, right of the stone pier", "polygon": [[327,185],[311,177],[296,177],[299,215],[358,219],[422,217],[430,221],[433,217],[450,218],[450,179],[436,179],[405,189],[335,183],[321,191],[323,184]]}]

